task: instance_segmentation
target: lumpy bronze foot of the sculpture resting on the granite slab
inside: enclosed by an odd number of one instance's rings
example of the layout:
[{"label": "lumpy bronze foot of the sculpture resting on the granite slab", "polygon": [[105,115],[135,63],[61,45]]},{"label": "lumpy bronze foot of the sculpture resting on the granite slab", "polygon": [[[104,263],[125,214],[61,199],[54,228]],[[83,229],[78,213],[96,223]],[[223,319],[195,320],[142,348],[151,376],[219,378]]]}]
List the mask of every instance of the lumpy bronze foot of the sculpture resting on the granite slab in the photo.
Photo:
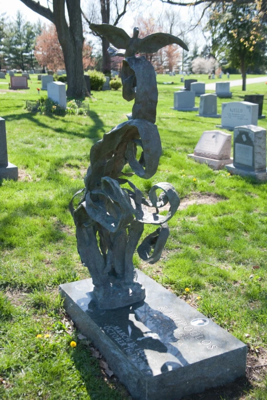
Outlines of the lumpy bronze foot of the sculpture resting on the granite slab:
[{"label": "lumpy bronze foot of the sculpture resting on the granite slab", "polygon": [[137,282],[132,283],[130,288],[126,289],[120,285],[104,287],[100,290],[94,287],[93,293],[101,310],[119,309],[142,301],[146,297],[145,289]]}]

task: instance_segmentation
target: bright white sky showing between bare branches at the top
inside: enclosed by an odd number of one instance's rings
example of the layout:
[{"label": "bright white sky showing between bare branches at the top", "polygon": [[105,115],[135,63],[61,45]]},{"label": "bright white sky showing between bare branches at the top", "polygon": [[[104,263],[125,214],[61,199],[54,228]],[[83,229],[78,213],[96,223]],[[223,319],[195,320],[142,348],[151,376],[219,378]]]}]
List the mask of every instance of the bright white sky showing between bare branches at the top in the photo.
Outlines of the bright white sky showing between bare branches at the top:
[{"label": "bright white sky showing between bare branches at the top", "polygon": [[[163,4],[160,0],[131,0],[134,2],[135,7],[132,10],[129,10],[123,17],[122,22],[120,23],[120,27],[123,28],[128,34],[132,34],[132,28],[135,26],[135,19],[139,14],[142,16],[146,16],[148,10],[153,10],[153,15],[160,19],[162,13],[166,9],[174,10],[177,15],[177,18],[181,21],[189,20],[193,15],[193,9],[189,9],[189,7],[178,7],[178,6],[171,6],[167,4]],[[47,7],[47,0],[39,0],[40,4]],[[99,3],[99,0],[81,0],[81,6],[84,12],[88,10],[88,4],[90,2]],[[37,19],[40,19],[42,22],[48,22],[48,20],[39,14],[32,11],[30,8],[25,6],[20,0],[0,0],[0,13],[6,13],[7,16],[15,17],[17,11],[21,11],[24,17],[29,20],[30,22],[36,22]],[[196,10],[197,13],[201,12],[201,9]],[[199,48],[202,48],[204,45],[204,38],[202,35],[199,35],[199,30],[195,30],[189,35],[189,39],[191,44],[189,44],[189,48],[193,47],[193,44],[197,42]],[[94,41],[94,39],[93,39]]]}]

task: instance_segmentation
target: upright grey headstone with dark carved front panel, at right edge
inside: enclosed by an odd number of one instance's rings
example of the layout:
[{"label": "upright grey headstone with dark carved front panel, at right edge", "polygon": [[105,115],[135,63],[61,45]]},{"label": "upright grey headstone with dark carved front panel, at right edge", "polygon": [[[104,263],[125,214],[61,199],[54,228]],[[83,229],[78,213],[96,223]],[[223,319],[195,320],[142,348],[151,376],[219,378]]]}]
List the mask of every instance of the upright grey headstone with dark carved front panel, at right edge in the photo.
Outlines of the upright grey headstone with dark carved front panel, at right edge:
[{"label": "upright grey headstone with dark carved front panel, at right edge", "polygon": [[255,125],[234,129],[234,161],[226,166],[234,175],[250,176],[259,181],[267,180],[266,129]]}]

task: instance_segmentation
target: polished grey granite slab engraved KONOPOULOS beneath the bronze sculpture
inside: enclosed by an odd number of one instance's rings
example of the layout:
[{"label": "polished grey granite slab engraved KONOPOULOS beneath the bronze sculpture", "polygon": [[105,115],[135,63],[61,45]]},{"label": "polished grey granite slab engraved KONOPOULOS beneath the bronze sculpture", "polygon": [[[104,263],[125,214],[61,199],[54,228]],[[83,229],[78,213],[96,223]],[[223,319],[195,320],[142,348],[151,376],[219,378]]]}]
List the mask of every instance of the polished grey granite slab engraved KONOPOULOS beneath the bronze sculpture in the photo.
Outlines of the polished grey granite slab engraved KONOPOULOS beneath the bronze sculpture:
[{"label": "polished grey granite slab engraved KONOPOULOS beneath the bronze sculpture", "polygon": [[64,307],[133,399],[173,400],[245,374],[247,346],[138,271],[144,301],[100,310],[92,279],[60,285]]}]

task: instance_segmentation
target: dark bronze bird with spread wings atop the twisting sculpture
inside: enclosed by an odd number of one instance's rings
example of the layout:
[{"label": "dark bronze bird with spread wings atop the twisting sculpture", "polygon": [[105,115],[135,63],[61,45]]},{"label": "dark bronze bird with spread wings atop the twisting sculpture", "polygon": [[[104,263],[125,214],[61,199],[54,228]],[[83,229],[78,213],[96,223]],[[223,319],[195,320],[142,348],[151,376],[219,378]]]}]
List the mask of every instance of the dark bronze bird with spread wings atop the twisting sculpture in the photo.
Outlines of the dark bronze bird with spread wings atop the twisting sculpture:
[{"label": "dark bronze bird with spread wings atop the twisting sculpture", "polygon": [[[139,53],[156,53],[168,44],[179,44],[188,51],[187,45],[182,39],[169,33],[156,32],[139,39],[138,27],[133,28],[133,36],[130,37],[123,29],[109,25],[108,23],[91,23],[92,31],[104,36],[113,46],[109,48],[111,56],[134,57]],[[123,50],[125,51],[123,51]]]}]

